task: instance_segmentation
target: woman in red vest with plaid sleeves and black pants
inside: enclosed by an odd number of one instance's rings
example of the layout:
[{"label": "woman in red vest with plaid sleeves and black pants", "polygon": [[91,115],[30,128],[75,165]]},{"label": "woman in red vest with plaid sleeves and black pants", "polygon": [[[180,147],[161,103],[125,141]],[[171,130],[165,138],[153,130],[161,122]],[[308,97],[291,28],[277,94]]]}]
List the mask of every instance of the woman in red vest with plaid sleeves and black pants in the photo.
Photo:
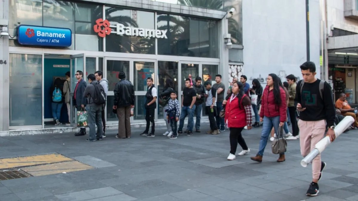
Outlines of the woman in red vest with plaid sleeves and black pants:
[{"label": "woman in red vest with plaid sleeves and black pants", "polygon": [[232,94],[223,101],[225,106],[225,122],[230,129],[230,154],[227,160],[234,160],[237,143],[242,147],[242,151],[238,154],[243,156],[250,152],[245,139],[241,135],[242,129],[247,126],[250,130],[252,123],[251,116],[251,100],[244,92],[241,82],[232,85]]}]

